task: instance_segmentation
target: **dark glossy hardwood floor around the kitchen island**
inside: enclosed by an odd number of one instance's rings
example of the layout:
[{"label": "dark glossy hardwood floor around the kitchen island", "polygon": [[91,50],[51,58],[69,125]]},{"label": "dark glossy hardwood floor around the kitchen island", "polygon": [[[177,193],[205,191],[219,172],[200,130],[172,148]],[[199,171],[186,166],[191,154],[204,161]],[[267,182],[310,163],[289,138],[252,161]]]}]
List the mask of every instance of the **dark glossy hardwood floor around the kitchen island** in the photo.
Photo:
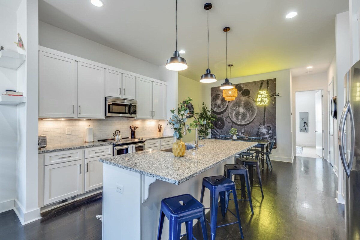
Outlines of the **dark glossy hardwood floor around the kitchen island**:
[{"label": "dark glossy hardwood floor around the kitchen island", "polygon": [[[337,178],[330,164],[297,157],[292,164],[274,161],[273,167],[273,172],[265,169],[262,173],[265,198],[259,187],[253,188],[254,215],[248,202],[239,202],[245,239],[345,240],[344,206],[335,201]],[[229,208],[234,209],[231,201]],[[101,195],[46,212],[42,219],[24,226],[11,210],[0,213],[0,239],[101,239],[102,225],[95,218],[101,213]],[[219,214],[218,224],[232,221],[230,213],[224,220]],[[198,225],[194,236],[202,239]],[[237,225],[217,228],[216,239],[240,239]]]}]

